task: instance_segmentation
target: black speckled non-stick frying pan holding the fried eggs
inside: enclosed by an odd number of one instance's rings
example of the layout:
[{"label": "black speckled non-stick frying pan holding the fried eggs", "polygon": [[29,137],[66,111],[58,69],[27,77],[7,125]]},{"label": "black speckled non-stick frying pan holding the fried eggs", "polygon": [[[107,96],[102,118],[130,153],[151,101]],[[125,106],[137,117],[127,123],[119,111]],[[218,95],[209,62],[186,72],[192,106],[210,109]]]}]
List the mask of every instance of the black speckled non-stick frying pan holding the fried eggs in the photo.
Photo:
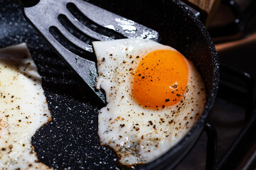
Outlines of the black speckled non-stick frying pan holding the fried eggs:
[{"label": "black speckled non-stick frying pan holding the fried eggs", "polygon": [[[196,125],[166,154],[135,169],[173,169],[203,132],[218,90],[218,57],[206,29],[179,1],[89,1],[157,30],[161,43],[190,59],[206,84],[208,101]],[[129,169],[112,149],[100,146],[97,111],[102,107],[22,16],[18,2],[0,0],[0,47],[26,42],[43,79],[53,120],[32,138],[38,159],[55,169]]]}]

